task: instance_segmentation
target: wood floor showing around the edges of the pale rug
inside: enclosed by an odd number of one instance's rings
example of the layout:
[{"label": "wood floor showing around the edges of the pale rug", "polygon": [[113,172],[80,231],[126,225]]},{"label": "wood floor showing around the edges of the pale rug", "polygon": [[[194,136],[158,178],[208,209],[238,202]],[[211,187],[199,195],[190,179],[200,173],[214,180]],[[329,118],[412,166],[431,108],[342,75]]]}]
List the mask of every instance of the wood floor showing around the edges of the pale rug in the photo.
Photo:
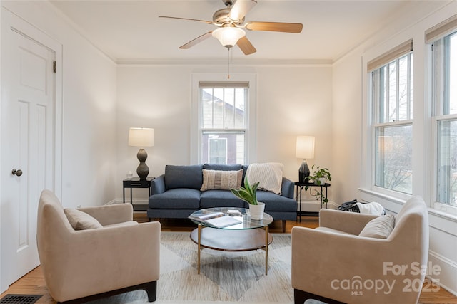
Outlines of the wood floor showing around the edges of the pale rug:
[{"label": "wood floor showing around the edges of the pale rug", "polygon": [[[134,219],[139,222],[148,221],[146,214],[136,213]],[[182,219],[163,219],[161,220],[162,231],[192,231],[195,229],[195,224],[189,220]],[[318,226],[318,218],[316,216],[303,216],[301,222],[299,221],[286,221],[286,233],[291,233],[293,226],[304,226],[309,228],[316,228]],[[272,233],[282,232],[282,222],[273,221],[269,227]],[[424,283],[424,287],[429,282]],[[430,286],[430,285],[428,285]],[[421,304],[457,304],[457,297],[448,293],[448,291],[440,288],[437,292],[428,292],[423,288],[419,303]],[[28,294],[28,295],[43,295],[37,303],[54,304],[56,303],[49,295],[46,283],[44,282],[43,273],[41,268],[37,267],[30,273],[20,278],[12,284],[9,290],[0,295],[3,298],[6,294]]]}]

